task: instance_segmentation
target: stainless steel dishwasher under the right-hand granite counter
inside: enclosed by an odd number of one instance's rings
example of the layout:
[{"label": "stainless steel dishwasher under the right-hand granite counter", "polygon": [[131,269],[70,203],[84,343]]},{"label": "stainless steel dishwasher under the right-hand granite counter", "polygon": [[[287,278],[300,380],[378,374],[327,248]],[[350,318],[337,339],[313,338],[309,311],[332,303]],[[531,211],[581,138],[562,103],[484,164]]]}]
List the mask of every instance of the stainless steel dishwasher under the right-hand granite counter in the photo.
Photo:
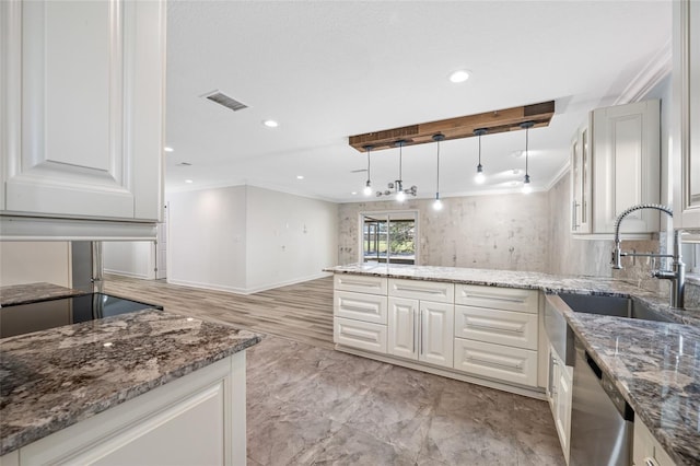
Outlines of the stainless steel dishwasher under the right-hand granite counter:
[{"label": "stainless steel dishwasher under the right-hand granite counter", "polygon": [[578,338],[574,349],[570,465],[629,466],[634,411]]}]

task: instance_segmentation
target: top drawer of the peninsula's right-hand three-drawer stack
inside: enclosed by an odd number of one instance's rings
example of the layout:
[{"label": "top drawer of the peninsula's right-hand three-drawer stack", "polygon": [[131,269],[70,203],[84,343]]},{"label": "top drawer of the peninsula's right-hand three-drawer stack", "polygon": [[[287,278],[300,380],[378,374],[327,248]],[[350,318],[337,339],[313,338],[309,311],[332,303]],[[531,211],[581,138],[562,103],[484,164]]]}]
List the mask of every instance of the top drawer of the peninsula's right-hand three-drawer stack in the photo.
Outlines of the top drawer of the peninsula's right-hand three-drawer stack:
[{"label": "top drawer of the peninsula's right-hand three-drawer stack", "polygon": [[536,290],[457,284],[455,304],[537,314]]}]

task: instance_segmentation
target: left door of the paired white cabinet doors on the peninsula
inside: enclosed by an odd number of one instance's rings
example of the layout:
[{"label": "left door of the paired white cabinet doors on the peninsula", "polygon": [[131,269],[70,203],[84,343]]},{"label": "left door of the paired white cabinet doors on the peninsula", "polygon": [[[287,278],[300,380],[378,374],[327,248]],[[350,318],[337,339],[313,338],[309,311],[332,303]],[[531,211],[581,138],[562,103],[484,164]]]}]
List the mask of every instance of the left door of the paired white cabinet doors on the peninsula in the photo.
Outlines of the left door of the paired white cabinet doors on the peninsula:
[{"label": "left door of the paired white cabinet doors on the peninsula", "polygon": [[389,354],[418,359],[418,301],[389,298],[388,347]]}]

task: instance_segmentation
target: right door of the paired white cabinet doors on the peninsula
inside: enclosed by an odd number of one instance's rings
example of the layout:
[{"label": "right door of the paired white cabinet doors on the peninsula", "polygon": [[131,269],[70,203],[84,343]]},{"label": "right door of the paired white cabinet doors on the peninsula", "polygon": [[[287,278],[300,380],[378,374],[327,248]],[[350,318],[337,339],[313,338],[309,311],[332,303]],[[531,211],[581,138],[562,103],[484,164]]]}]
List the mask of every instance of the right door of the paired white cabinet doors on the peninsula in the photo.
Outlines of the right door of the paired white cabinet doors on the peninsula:
[{"label": "right door of the paired white cabinet doors on the peninsula", "polygon": [[420,302],[420,348],[418,359],[444,368],[454,360],[454,305]]}]

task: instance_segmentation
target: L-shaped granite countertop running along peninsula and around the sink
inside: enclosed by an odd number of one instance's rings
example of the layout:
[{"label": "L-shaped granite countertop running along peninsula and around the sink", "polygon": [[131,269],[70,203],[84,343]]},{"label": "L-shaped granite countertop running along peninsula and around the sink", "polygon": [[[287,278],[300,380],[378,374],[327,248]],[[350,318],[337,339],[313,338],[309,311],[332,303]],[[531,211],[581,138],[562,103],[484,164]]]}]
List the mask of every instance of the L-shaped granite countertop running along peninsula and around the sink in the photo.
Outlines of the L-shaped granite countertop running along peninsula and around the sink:
[{"label": "L-shaped granite countertop running along peninsula and around the sink", "polygon": [[[677,311],[666,299],[620,280],[548,273],[401,265],[326,269],[428,281],[632,296],[678,324],[574,313],[557,306],[594,360],[612,377],[635,415],[678,465],[700,464],[700,311]],[[563,304],[563,302],[561,302]]]}]

